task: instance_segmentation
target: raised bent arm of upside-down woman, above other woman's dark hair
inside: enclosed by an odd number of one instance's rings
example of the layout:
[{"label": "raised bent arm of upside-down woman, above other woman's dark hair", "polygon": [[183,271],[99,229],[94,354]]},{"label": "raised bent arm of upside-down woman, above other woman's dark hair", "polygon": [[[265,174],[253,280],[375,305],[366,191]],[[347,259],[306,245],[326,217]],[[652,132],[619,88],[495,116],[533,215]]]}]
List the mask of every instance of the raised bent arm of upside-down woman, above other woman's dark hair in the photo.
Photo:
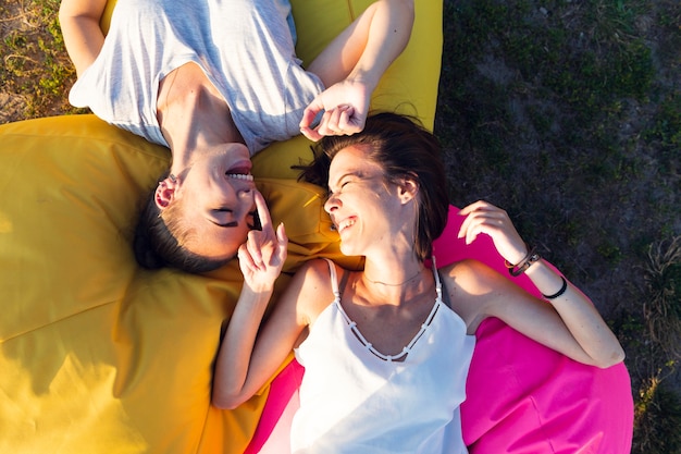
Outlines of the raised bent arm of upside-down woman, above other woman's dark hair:
[{"label": "raised bent arm of upside-down woman, above other woman's dark hair", "polygon": [[[354,134],[364,127],[371,94],[403,52],[413,26],[413,0],[379,0],[338,35],[310,64],[324,86],[306,109],[300,131],[319,140],[323,135]],[[320,125],[310,124],[325,110]]]}]

